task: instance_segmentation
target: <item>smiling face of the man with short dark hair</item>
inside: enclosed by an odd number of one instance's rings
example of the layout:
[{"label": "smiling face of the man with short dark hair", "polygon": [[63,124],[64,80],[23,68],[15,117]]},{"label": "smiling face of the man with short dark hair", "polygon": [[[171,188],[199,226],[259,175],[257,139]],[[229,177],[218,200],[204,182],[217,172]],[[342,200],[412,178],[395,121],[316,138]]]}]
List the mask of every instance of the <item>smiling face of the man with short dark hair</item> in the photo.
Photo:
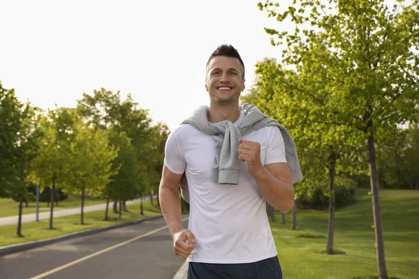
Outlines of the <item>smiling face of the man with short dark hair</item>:
[{"label": "smiling face of the man with short dark hair", "polygon": [[242,65],[235,57],[215,56],[211,59],[205,80],[205,89],[210,93],[211,102],[236,102],[244,90],[242,73]]}]

